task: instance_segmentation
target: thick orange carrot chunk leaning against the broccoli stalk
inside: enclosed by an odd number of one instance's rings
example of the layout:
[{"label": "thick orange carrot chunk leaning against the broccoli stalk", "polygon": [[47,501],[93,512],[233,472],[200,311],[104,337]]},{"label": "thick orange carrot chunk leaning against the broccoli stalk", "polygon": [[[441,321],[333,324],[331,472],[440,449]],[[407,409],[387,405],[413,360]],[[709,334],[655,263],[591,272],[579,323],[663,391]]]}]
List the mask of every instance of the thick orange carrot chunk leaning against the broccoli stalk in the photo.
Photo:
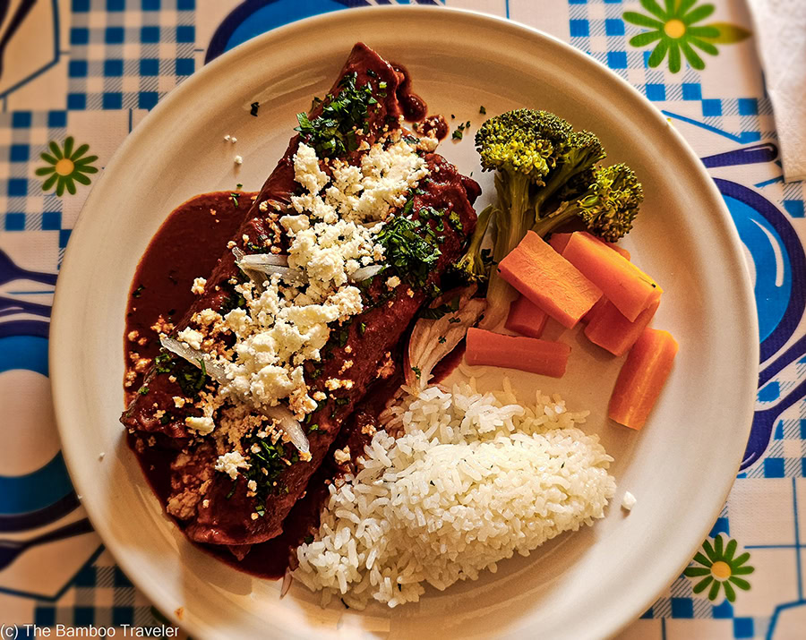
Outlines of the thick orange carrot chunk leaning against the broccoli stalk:
[{"label": "thick orange carrot chunk leaning against the broccoli stalk", "polygon": [[602,297],[598,286],[534,231],[498,265],[504,280],[570,329]]}]

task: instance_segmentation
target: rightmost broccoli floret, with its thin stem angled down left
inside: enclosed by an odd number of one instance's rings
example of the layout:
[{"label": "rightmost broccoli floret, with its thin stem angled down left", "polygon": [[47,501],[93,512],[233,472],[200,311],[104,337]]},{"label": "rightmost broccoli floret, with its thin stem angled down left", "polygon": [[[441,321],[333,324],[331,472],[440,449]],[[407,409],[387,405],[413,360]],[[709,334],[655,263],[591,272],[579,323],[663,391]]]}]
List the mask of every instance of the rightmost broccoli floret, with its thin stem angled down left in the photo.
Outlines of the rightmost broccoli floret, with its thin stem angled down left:
[{"label": "rightmost broccoli floret, with its thin stem angled down left", "polygon": [[545,236],[571,219],[580,218],[588,231],[607,242],[614,243],[627,235],[644,200],[641,183],[624,164],[596,167],[593,178],[584,193],[537,220],[532,230]]}]

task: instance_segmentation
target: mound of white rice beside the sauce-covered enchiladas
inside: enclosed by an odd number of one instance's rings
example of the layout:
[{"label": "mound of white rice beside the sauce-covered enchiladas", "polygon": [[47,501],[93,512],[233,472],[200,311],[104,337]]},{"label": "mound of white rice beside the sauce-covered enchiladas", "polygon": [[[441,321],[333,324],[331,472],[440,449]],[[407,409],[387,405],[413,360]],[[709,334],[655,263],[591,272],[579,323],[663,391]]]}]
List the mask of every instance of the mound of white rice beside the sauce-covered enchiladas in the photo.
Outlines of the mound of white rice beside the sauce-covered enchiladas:
[{"label": "mound of white rice beside the sauce-covered enchiladas", "polygon": [[365,449],[364,467],[330,486],[313,542],[294,572],[363,609],[416,602],[424,584],[445,589],[527,556],[563,531],[604,515],[613,458],[577,428],[562,399],[536,394],[521,406],[509,380],[480,394],[475,381],[426,388],[393,409],[387,431]]}]

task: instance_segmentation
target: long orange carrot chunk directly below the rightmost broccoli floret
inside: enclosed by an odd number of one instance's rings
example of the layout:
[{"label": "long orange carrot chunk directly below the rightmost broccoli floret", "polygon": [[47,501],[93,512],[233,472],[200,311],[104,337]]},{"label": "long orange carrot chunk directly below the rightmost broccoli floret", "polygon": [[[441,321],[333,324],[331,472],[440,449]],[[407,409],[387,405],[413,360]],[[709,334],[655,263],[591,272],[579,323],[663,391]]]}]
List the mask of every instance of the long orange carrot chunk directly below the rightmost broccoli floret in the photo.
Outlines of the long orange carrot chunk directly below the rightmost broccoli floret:
[{"label": "long orange carrot chunk directly below the rightmost broccoli floret", "polygon": [[571,235],[562,257],[598,286],[633,321],[663,293],[655,280],[606,243],[585,232]]}]

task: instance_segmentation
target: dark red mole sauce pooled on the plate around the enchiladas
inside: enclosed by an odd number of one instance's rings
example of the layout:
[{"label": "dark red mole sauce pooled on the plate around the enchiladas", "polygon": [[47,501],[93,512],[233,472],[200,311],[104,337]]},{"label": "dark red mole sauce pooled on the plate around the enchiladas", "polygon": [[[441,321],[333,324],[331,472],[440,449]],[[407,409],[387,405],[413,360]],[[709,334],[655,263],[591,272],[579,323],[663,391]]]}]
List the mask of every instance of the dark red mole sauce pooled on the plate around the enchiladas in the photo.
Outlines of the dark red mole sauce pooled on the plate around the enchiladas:
[{"label": "dark red mole sauce pooled on the plate around the enchiladas", "polygon": [[[124,336],[126,363],[131,365],[140,358],[150,360],[159,354],[159,331],[152,327],[158,322],[160,315],[168,322],[184,316],[193,303],[193,279],[212,271],[227,242],[236,234],[255,193],[243,192],[237,199],[240,201],[237,207],[236,199],[230,193],[205,193],[184,202],[168,216],[151,239],[134,274],[129,292]],[[188,246],[193,249],[188,251]],[[407,340],[401,340],[401,344],[406,343]],[[434,382],[442,380],[453,370],[461,360],[462,352],[463,349],[458,347],[438,365],[434,371]],[[399,362],[400,357],[396,360]],[[350,420],[361,421],[361,424],[374,422],[374,417],[399,388],[402,382],[400,371],[398,367],[398,375],[370,388],[363,404],[356,408],[356,413]],[[126,405],[141,387],[143,372],[137,372],[136,377],[124,382]],[[137,457],[152,490],[165,507],[171,493],[170,465],[178,451],[159,446],[138,447],[137,440],[141,438],[141,434],[129,433],[127,443]],[[362,434],[360,428],[345,428],[333,447],[343,448],[348,445],[350,451],[360,452],[369,439],[369,436]],[[319,513],[328,496],[327,483],[338,473],[338,469],[332,464],[333,457],[328,456],[327,460],[331,464],[322,464],[313,475],[306,494],[296,502],[286,517],[283,533],[279,537],[254,544],[251,549],[244,547],[230,550],[221,545],[193,544],[228,565],[254,576],[282,577],[288,566],[290,552],[304,542],[305,537],[319,525]],[[181,521],[175,522],[180,528],[183,527]],[[238,560],[235,552],[246,549],[249,549],[248,553]]]}]

